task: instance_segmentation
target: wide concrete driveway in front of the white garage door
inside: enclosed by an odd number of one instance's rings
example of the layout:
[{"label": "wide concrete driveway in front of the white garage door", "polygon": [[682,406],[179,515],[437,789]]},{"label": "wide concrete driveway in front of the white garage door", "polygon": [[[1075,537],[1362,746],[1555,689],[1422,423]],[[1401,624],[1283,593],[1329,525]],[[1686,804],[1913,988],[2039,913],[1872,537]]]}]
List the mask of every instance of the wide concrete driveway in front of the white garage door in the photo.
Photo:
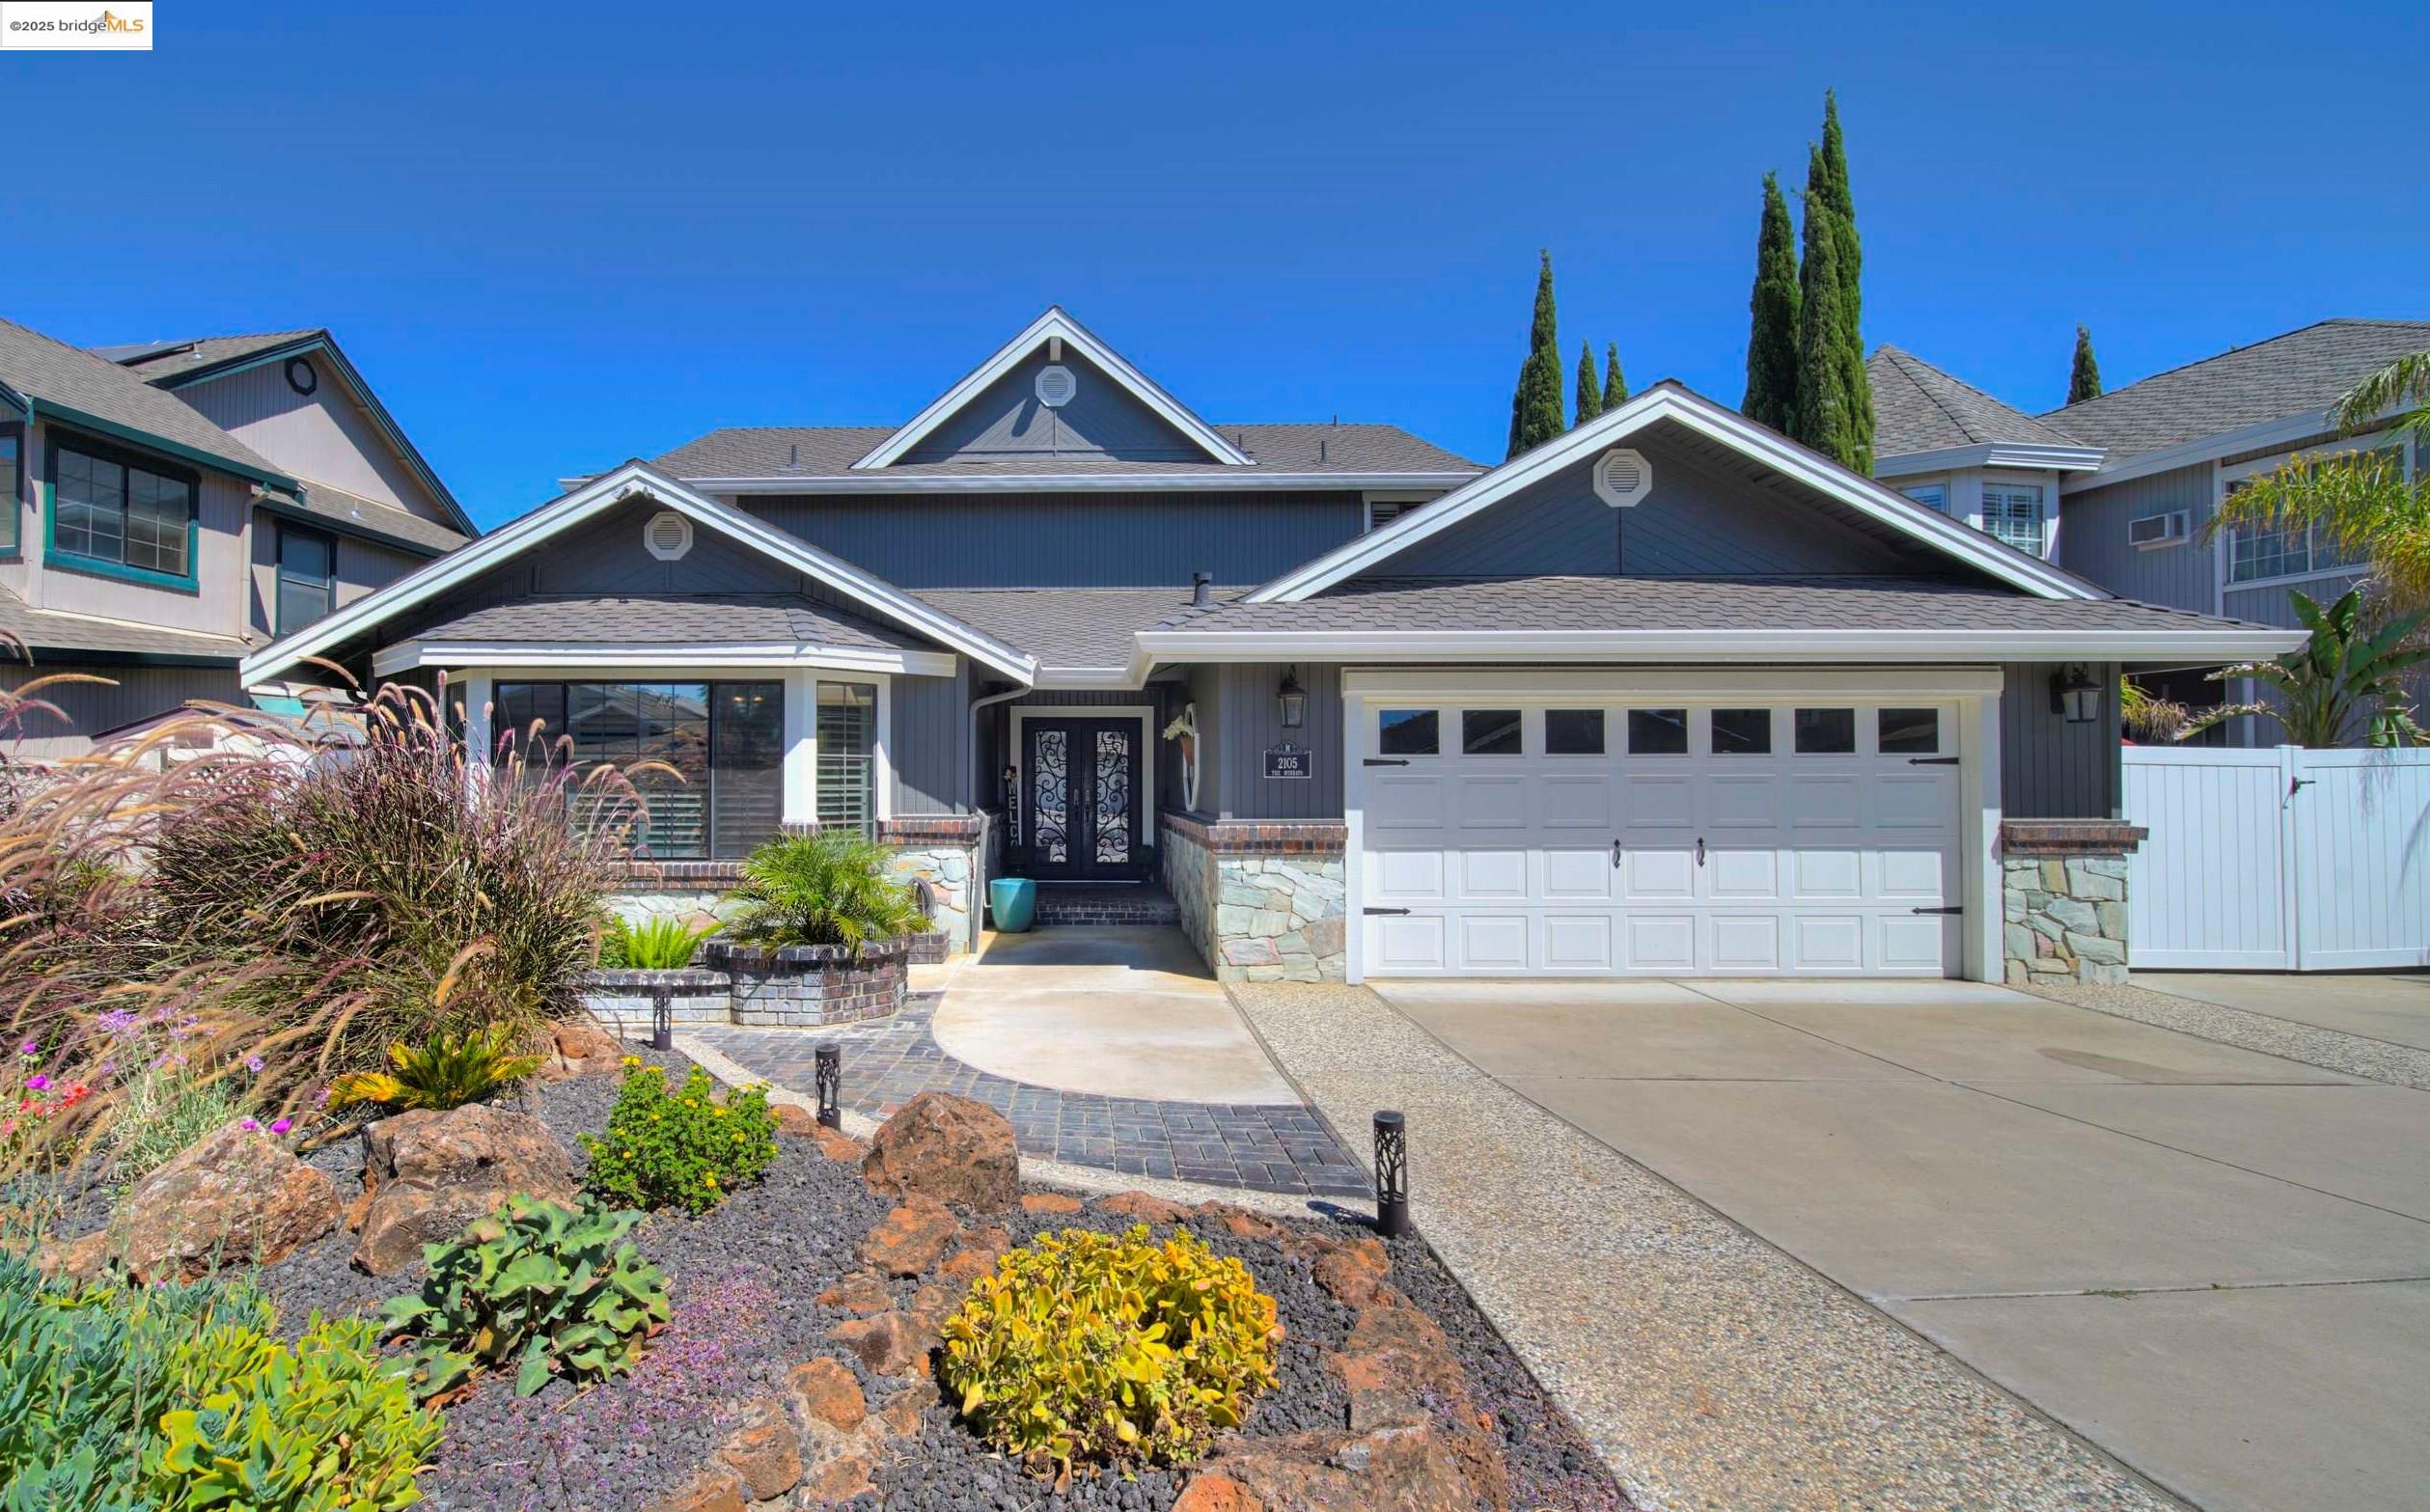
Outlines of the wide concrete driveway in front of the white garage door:
[{"label": "wide concrete driveway in front of the white garage door", "polygon": [[1963,982],[1383,982],[2211,1510],[2430,1485],[2430,1094]]}]

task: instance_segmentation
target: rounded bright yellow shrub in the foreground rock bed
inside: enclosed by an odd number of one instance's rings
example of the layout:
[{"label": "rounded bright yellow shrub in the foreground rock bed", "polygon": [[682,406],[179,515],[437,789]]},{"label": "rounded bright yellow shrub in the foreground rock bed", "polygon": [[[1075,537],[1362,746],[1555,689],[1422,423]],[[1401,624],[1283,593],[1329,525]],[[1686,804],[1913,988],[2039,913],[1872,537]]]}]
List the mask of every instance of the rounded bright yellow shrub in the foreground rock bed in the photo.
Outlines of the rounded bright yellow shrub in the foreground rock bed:
[{"label": "rounded bright yellow shrub in the foreground rock bed", "polygon": [[1164,1245],[1040,1235],[979,1276],[945,1320],[945,1395],[996,1449],[1074,1463],[1188,1463],[1276,1386],[1273,1298],[1196,1235]]}]

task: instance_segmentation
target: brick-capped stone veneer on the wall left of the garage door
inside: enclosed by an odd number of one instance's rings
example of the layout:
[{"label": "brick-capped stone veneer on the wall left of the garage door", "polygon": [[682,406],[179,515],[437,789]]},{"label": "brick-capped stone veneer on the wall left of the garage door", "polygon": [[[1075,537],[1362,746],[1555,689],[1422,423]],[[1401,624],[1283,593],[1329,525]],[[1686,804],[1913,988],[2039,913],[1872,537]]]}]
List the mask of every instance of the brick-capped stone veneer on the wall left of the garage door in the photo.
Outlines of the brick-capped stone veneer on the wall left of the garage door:
[{"label": "brick-capped stone veneer on the wall left of the garage door", "polygon": [[1181,931],[1222,982],[1339,982],[1344,946],[1336,819],[1164,814],[1164,887]]}]

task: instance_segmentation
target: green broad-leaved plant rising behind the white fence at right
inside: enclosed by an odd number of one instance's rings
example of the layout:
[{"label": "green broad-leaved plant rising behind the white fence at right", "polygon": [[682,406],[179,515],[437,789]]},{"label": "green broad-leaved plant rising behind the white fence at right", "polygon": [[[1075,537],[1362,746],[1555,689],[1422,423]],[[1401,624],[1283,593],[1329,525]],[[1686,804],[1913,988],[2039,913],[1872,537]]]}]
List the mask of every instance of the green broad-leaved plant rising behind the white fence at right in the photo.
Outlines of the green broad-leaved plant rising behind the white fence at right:
[{"label": "green broad-leaved plant rising behind the white fence at right", "polygon": [[2211,673],[2267,683],[2277,688],[2282,705],[2204,710],[2175,739],[2238,715],[2267,715],[2287,727],[2287,739],[2296,746],[2343,746],[2357,724],[2367,746],[2430,744],[2430,734],[2413,720],[2413,698],[2403,686],[2408,671],[2430,661],[2430,647],[2408,644],[2430,613],[2396,615],[2374,627],[2362,613],[2362,588],[2347,588],[2345,598],[2326,610],[2304,593],[2287,598],[2304,630],[2311,630],[2311,642],[2277,661],[2223,666]]}]

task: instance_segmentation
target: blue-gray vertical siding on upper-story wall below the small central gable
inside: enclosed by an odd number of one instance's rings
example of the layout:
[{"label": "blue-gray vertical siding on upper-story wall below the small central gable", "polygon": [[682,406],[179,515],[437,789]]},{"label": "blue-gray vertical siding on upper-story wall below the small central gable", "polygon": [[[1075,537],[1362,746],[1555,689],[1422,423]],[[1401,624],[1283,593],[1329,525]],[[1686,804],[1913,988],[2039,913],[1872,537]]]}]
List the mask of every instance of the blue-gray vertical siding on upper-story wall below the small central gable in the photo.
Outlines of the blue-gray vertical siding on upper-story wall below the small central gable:
[{"label": "blue-gray vertical siding on upper-story wall below the small central gable", "polygon": [[1254,586],[1366,525],[1358,493],[770,496],[741,506],[902,588]]}]

